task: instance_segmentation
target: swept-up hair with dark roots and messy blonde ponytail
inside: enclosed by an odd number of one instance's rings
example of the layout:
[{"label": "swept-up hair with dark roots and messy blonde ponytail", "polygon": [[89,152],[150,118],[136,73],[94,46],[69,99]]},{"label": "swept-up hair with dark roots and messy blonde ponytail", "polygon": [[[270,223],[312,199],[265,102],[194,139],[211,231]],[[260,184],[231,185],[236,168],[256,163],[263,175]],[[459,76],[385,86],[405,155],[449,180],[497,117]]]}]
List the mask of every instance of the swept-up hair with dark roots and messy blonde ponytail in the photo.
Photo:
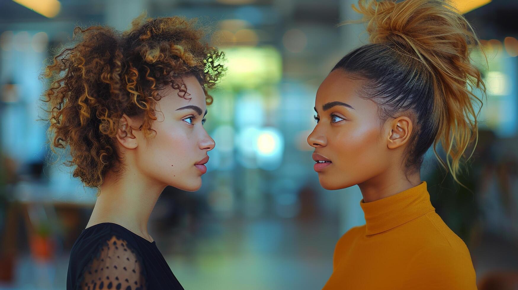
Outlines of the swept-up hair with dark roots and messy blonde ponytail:
[{"label": "swept-up hair with dark roots and messy blonde ponytail", "polygon": [[[443,0],[359,0],[353,9],[363,18],[344,24],[365,23],[370,44],[344,56],[334,69],[369,80],[365,89],[383,105],[385,117],[400,112],[415,116],[410,168],[420,168],[433,144],[439,162],[458,182],[461,163],[470,157],[465,154],[468,144],[478,139],[485,93],[480,71],[469,58],[480,46],[471,25]],[[478,110],[474,104],[480,105]],[[437,153],[438,143],[445,161]]]}]

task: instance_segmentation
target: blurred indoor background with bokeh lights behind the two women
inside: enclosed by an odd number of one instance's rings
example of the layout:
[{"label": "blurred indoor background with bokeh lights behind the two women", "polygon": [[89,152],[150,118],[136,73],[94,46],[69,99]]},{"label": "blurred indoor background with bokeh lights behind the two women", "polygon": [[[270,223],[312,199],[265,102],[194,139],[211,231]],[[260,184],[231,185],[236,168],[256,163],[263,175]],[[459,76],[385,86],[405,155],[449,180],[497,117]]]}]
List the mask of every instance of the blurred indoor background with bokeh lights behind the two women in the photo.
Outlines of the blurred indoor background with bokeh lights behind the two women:
[{"label": "blurred indoor background with bokeh lights behind the two women", "polygon": [[[49,166],[38,74],[75,25],[128,28],[148,16],[199,17],[226,52],[205,127],[217,146],[197,192],[167,187],[149,233],[185,289],[320,289],[333,250],[365,223],[357,186],[323,190],[306,138],[334,64],[365,42],[352,0],[1,0],[0,288],[64,289],[71,246],[94,194]],[[480,138],[456,185],[427,154],[422,179],[471,252],[480,289],[518,285],[518,2],[457,0],[483,39],[488,87]],[[441,152],[442,154],[442,152]],[[514,286],[513,286],[514,285]]]}]

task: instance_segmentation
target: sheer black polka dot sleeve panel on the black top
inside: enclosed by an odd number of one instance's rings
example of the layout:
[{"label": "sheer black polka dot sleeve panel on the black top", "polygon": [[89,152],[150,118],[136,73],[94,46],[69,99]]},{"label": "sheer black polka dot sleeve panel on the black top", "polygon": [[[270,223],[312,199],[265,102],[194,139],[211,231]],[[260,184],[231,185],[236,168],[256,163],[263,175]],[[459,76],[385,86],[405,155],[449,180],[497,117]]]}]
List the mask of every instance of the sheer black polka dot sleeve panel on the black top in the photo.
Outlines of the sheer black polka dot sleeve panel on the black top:
[{"label": "sheer black polka dot sleeve panel on the black top", "polygon": [[123,239],[112,236],[84,267],[82,290],[145,290],[146,278],[138,255]]}]

